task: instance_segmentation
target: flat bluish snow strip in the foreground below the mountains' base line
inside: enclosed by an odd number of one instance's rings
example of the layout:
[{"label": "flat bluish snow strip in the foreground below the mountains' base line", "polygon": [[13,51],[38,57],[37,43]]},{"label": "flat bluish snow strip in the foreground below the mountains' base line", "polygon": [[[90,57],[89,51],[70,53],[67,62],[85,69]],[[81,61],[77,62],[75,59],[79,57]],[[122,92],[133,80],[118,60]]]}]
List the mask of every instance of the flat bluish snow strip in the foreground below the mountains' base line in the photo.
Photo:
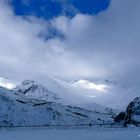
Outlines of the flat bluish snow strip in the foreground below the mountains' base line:
[{"label": "flat bluish snow strip in the foreground below the mountains' base line", "polygon": [[139,129],[1,129],[1,140],[139,140]]}]

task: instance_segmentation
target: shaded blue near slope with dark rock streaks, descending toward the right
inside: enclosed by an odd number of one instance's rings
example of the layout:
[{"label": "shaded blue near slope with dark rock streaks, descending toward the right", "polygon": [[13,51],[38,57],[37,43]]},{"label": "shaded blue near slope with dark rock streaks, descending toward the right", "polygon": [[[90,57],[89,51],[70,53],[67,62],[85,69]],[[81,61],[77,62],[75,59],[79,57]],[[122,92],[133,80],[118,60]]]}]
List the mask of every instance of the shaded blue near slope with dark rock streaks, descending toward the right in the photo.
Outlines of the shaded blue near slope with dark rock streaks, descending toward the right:
[{"label": "shaded blue near slope with dark rock streaks, descending toward the right", "polygon": [[0,87],[0,126],[88,125],[112,121],[108,114],[31,99]]}]

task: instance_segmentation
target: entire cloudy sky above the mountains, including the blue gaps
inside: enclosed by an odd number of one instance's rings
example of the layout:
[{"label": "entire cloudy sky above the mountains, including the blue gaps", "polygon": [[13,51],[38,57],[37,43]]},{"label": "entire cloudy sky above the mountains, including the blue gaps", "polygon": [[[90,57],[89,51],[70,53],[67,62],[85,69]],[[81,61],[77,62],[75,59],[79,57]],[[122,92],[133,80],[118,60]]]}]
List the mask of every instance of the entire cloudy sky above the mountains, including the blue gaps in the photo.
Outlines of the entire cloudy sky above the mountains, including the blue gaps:
[{"label": "entire cloudy sky above the mountains, including the blue gaps", "polygon": [[139,0],[21,1],[0,0],[1,77],[140,83]]}]

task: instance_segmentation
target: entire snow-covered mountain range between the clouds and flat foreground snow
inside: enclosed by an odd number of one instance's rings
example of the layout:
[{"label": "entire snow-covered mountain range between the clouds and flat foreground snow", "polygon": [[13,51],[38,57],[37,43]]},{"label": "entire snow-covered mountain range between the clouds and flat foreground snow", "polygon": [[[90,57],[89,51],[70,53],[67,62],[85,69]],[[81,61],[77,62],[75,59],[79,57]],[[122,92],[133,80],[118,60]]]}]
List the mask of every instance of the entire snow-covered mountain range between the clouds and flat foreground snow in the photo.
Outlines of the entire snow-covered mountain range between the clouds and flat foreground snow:
[{"label": "entire snow-covered mountain range between the clouds and flat foreground snow", "polygon": [[[127,97],[128,93],[136,91],[136,87],[110,80],[78,80],[68,83],[46,77],[45,82],[25,80],[20,83],[4,78],[0,82],[0,125],[3,126],[112,123],[112,117],[118,110],[110,108],[110,102],[107,101],[112,99],[114,102],[116,98],[120,104],[122,99],[127,99],[125,102],[128,104],[130,98],[132,100],[137,95],[135,93]],[[118,94],[121,94],[119,98]],[[137,97],[115,119],[138,124],[139,110],[140,98]]]}]

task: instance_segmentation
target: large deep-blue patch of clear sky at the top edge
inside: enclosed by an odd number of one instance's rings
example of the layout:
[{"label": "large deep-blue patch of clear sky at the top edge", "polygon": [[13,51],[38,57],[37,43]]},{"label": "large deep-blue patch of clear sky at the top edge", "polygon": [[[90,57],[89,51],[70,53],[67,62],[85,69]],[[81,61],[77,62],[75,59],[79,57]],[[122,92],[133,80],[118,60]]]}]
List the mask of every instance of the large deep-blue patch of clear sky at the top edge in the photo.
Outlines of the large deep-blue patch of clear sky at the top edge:
[{"label": "large deep-blue patch of clear sky at the top edge", "polygon": [[98,14],[110,0],[11,0],[16,15],[33,15],[51,19],[59,15],[73,17],[77,13]]}]

